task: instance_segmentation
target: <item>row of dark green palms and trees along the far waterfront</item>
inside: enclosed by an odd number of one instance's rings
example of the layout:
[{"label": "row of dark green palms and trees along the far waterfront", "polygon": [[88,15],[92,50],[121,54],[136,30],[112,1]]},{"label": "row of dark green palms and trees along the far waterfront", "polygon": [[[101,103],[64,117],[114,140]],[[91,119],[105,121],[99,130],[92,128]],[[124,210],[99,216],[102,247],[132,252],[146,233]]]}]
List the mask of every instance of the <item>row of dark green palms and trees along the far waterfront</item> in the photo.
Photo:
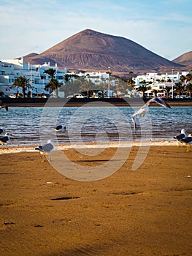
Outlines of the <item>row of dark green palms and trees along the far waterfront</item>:
[{"label": "row of dark green palms and trees along the far waterfront", "polygon": [[[64,83],[58,83],[58,80],[54,78],[56,70],[53,68],[45,70],[44,73],[50,75],[50,81],[45,86],[45,90],[52,93],[55,91],[55,97],[58,97],[58,88],[60,91],[64,91],[65,97],[71,94],[76,94],[80,92],[85,92],[88,97],[93,94],[93,92],[101,91],[101,94],[104,90],[109,89],[109,80],[101,78],[101,83],[95,84],[91,80],[90,75],[85,76],[78,76],[74,74],[66,74],[64,75]],[[110,76],[112,74],[110,73]],[[120,77],[120,76],[111,76],[111,80],[115,81],[115,86],[110,87],[116,94],[120,91],[123,94],[126,94],[127,91],[132,91],[135,85],[135,82],[132,78],[133,72],[129,72],[129,78]],[[99,78],[99,77],[98,77]],[[162,82],[162,81],[161,81]],[[167,80],[169,82],[169,80]],[[171,80],[170,80],[171,82]],[[143,96],[145,96],[145,91],[148,90],[148,86],[146,85],[146,81],[143,80],[140,82],[141,85],[137,89],[137,91],[142,91]],[[26,78],[26,76],[20,76],[16,78],[14,83],[12,84],[13,87],[21,88],[22,89],[22,96],[26,97],[26,90],[31,89],[30,80]],[[188,75],[181,75],[180,81],[174,83],[174,91],[181,97],[183,92],[191,97],[192,95],[192,84],[191,84],[191,74]],[[165,89],[167,97],[172,91],[172,86],[166,86]],[[153,94],[157,94],[159,90],[153,90]],[[102,95],[104,97],[104,95]]]}]

